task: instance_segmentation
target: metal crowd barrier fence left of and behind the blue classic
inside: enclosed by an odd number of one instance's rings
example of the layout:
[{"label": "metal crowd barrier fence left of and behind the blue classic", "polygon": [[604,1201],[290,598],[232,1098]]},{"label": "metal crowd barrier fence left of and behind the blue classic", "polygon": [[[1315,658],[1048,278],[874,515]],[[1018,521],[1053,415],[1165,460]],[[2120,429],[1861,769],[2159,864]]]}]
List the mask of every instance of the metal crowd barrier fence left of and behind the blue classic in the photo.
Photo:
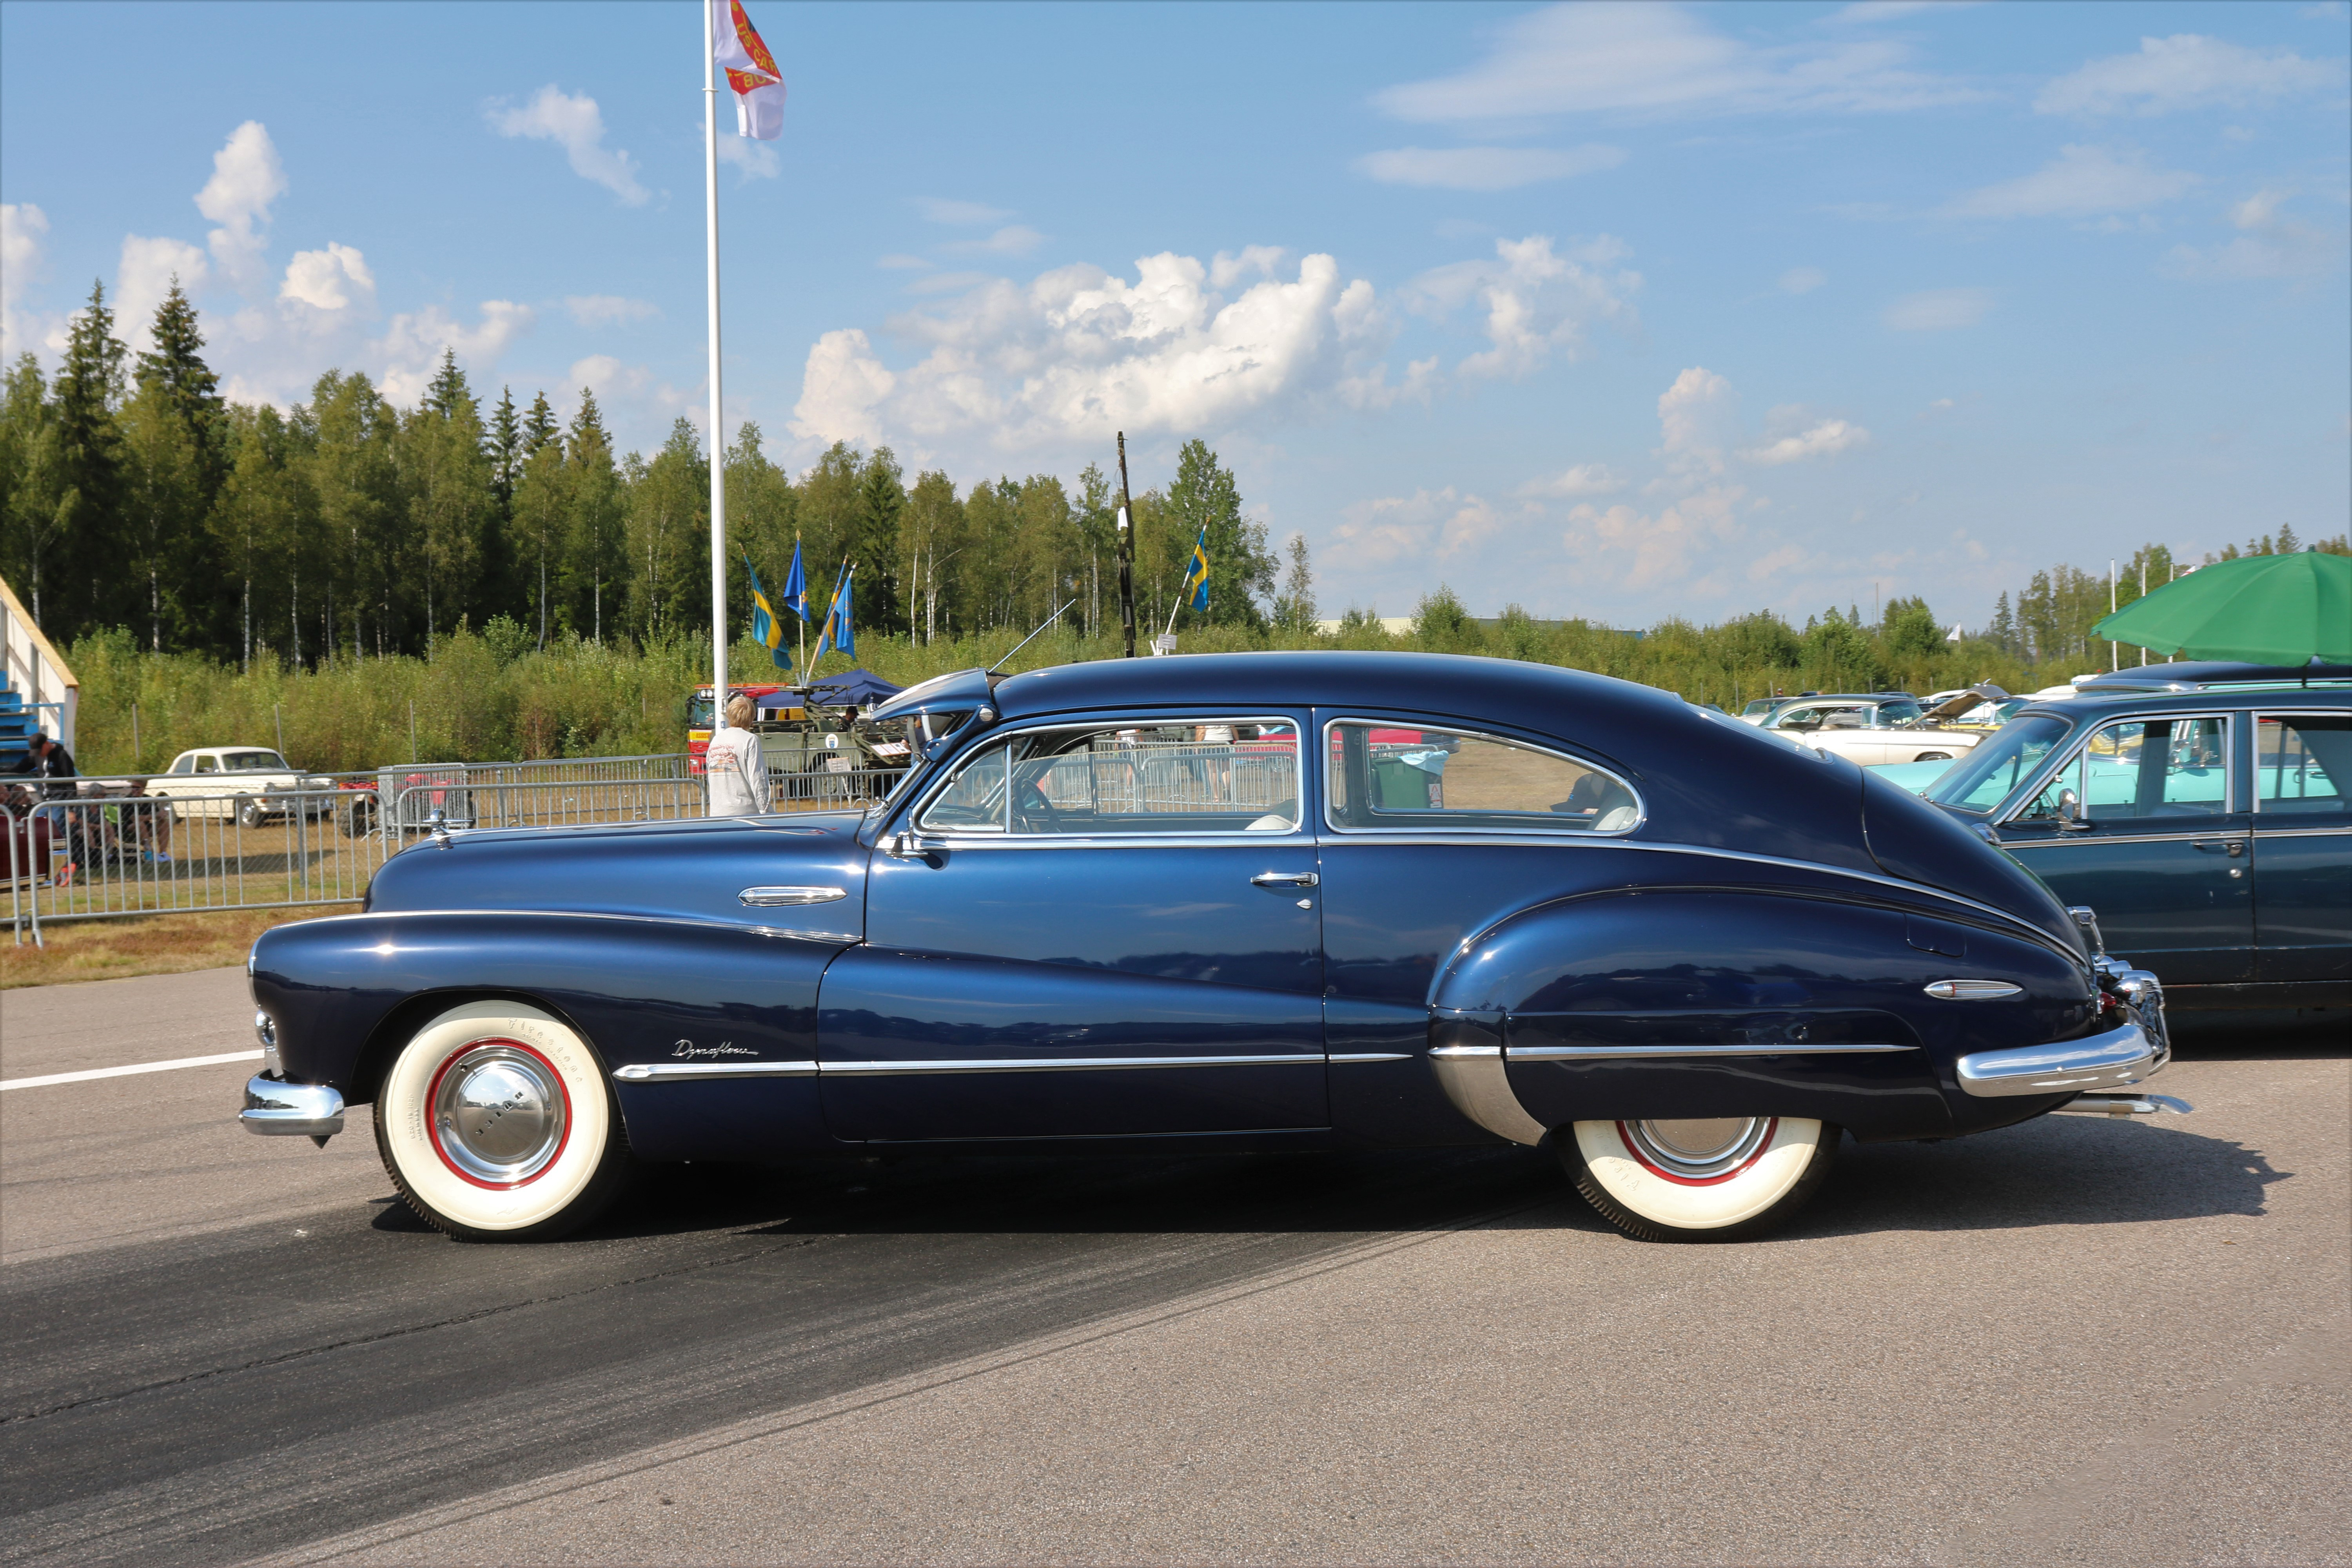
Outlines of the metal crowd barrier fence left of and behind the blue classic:
[{"label": "metal crowd barrier fence left of and behind the blue classic", "polygon": [[[856,811],[898,778],[891,769],[769,771],[769,809]],[[435,827],[581,827],[708,811],[706,783],[684,755],[423,764],[332,778],[332,788],[200,783],[82,780],[73,799],[0,809],[14,940],[40,943],[42,924],[61,919],[355,903],[379,865]]]}]

